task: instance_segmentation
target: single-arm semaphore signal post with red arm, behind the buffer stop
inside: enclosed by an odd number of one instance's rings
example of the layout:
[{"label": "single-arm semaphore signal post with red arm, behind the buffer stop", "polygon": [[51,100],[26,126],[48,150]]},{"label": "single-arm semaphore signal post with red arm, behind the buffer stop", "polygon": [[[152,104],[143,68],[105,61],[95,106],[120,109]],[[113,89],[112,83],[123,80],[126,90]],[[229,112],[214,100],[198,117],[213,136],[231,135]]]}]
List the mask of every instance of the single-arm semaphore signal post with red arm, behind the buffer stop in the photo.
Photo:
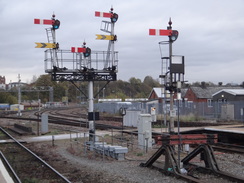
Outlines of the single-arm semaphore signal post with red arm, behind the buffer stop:
[{"label": "single-arm semaphore signal post with red arm, behind the buffer stop", "polygon": [[[164,100],[166,100],[166,90],[170,92],[170,123],[169,132],[174,133],[174,117],[176,111],[174,111],[174,93],[179,94],[180,98],[180,88],[181,83],[184,82],[185,65],[184,56],[173,55],[172,54],[172,44],[177,40],[179,32],[177,30],[172,30],[172,22],[169,20],[169,26],[167,29],[149,29],[149,35],[151,36],[168,36],[168,41],[161,41],[159,44],[169,45],[169,55],[162,56],[162,74],[159,76],[163,78],[162,82],[165,88]],[[178,98],[178,99],[179,99]],[[179,111],[178,111],[179,115]],[[166,115],[165,115],[166,116]],[[179,128],[179,125],[178,125]],[[179,132],[179,129],[178,129]]]}]

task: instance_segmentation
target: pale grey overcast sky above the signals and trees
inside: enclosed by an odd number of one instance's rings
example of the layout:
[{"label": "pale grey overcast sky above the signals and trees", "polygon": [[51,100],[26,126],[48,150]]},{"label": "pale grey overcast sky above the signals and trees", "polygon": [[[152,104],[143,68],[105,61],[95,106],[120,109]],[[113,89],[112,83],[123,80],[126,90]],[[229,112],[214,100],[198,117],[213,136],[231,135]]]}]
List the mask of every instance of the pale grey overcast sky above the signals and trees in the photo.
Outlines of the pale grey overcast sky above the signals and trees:
[{"label": "pale grey overcast sky above the signals and trees", "polygon": [[[92,50],[107,50],[108,41],[96,40],[103,18],[95,11],[119,15],[115,25],[119,51],[118,79],[161,74],[161,55],[167,40],[149,36],[148,29],[167,29],[169,18],[179,37],[173,54],[185,56],[185,80],[238,83],[244,81],[243,0],[0,0],[0,75],[6,82],[23,82],[45,74],[44,50],[35,42],[47,42],[45,28],[34,18],[60,20],[56,31],[60,49],[81,46],[85,40]],[[106,20],[106,18],[105,18]]]}]

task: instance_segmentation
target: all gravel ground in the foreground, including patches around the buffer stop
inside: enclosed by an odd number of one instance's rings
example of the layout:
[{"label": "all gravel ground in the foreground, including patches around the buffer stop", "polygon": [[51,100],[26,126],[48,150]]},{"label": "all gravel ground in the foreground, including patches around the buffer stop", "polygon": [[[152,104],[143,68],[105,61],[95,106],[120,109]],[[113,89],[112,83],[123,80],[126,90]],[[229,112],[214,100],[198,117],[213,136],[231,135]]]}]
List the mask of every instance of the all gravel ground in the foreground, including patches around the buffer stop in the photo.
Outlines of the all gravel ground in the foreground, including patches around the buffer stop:
[{"label": "all gravel ground in the foreground, including patches around the buffer stop", "polygon": [[[34,148],[35,151],[38,151],[39,155],[44,158],[47,156],[59,157],[55,158],[55,161],[52,161],[52,158],[49,158],[49,163],[74,183],[185,182],[182,179],[166,176],[155,169],[139,166],[141,162],[146,162],[156,149],[152,149],[147,154],[144,153],[140,156],[138,156],[138,153],[129,152],[124,161],[118,161],[110,157],[105,157],[103,160],[101,155],[91,151],[86,151],[85,153],[81,144],[78,144],[77,142],[71,143],[67,140],[56,141],[55,147],[52,147],[51,142],[36,143],[32,144],[32,146],[32,148]],[[42,152],[40,152],[40,150]],[[215,156],[221,171],[244,177],[244,155],[215,152]],[[163,160],[164,156],[160,159],[162,165],[161,168],[163,168]],[[199,160],[197,160],[196,163],[198,161]],[[200,164],[202,164],[202,162]],[[230,182],[229,180],[222,179],[212,174],[201,174],[196,172],[193,175],[199,177],[204,182]]]}]

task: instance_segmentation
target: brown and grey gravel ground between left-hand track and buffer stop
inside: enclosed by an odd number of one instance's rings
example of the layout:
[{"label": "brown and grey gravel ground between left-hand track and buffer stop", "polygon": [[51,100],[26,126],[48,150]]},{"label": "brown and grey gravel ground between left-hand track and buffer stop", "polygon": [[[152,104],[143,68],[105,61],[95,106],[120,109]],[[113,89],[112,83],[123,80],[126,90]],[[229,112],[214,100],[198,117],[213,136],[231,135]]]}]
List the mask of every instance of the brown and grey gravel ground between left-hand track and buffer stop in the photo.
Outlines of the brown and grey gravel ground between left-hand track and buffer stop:
[{"label": "brown and grey gravel ground between left-hand track and buffer stop", "polygon": [[[29,147],[74,183],[184,182],[174,177],[165,176],[157,170],[140,167],[140,163],[144,160],[132,160],[130,157],[124,161],[110,157],[105,157],[103,160],[101,155],[94,152],[87,151],[85,154],[83,148],[80,148],[77,143],[69,141],[57,141],[55,147],[52,147],[50,143],[35,143]],[[55,161],[48,157],[55,157]],[[74,178],[78,175],[79,178]]]}]

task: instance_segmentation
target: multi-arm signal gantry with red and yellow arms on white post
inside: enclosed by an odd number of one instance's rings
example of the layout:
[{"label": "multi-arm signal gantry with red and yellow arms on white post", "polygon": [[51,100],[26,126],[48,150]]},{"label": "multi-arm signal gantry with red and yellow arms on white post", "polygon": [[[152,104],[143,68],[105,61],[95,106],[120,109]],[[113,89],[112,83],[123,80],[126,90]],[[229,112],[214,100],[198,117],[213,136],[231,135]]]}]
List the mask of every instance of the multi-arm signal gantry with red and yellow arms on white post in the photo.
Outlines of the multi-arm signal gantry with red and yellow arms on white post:
[{"label": "multi-arm signal gantry with red and yellow arms on white post", "polygon": [[[93,107],[93,82],[107,81],[105,86],[110,81],[117,80],[118,72],[118,52],[114,49],[117,36],[114,34],[115,23],[118,20],[118,14],[111,11],[109,13],[95,12],[96,17],[109,18],[110,21],[102,21],[101,30],[109,33],[109,35],[97,35],[97,39],[108,40],[107,51],[93,51],[83,43],[82,47],[71,47],[70,50],[61,50],[56,43],[55,30],[59,28],[60,21],[35,19],[35,24],[52,25],[46,29],[48,43],[36,43],[38,48],[49,48],[45,50],[45,72],[49,73],[54,81],[87,81],[88,86],[88,101],[89,101],[89,132],[95,134],[95,113]],[[52,43],[52,44],[50,44]],[[104,87],[105,87],[104,86]],[[95,95],[95,97],[103,90]],[[81,91],[82,92],[82,91]],[[84,93],[83,93],[84,94]],[[84,94],[85,95],[85,94]],[[85,95],[86,96],[86,95]],[[90,141],[94,141],[94,136],[90,136]]]}]

